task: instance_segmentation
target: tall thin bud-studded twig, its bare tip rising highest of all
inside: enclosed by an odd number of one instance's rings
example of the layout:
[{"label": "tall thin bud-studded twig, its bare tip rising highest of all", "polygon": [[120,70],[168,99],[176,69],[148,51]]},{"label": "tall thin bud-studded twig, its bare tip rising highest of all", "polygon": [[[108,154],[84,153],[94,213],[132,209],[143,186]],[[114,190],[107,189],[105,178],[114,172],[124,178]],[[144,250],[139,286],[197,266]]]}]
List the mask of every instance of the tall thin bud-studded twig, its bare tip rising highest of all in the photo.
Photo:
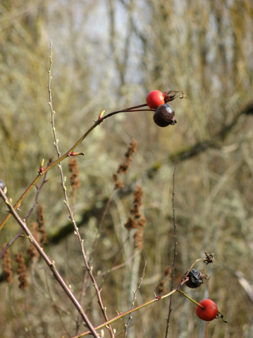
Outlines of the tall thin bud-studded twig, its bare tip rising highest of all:
[{"label": "tall thin bud-studded twig, its bare tip rising highest of all", "polygon": [[[53,127],[53,133],[54,133],[54,146],[56,147],[56,151],[57,151],[57,155],[58,155],[58,158],[61,157],[61,153],[59,151],[59,148],[58,148],[58,139],[56,137],[56,129],[55,129],[55,125],[54,125],[54,109],[53,109],[53,102],[52,102],[52,97],[51,97],[51,64],[52,64],[52,49],[51,49],[51,44],[50,44],[50,50],[51,50],[51,55],[49,57],[50,59],[50,64],[49,64],[49,85],[48,85],[48,91],[49,91],[49,106],[50,106],[50,109],[51,109],[51,124],[52,124],[52,127]],[[78,226],[76,225],[75,223],[75,219],[74,219],[74,216],[73,216],[73,212],[71,211],[70,209],[70,205],[68,203],[68,194],[67,194],[67,189],[66,189],[66,185],[65,185],[65,180],[64,180],[64,175],[63,175],[63,170],[61,168],[61,163],[58,164],[58,168],[60,170],[60,175],[61,175],[61,186],[63,187],[63,194],[64,194],[64,204],[66,204],[66,207],[68,209],[68,214],[70,215],[70,219],[73,223],[73,227],[75,229],[75,235],[76,237],[78,238],[78,243],[80,245],[80,248],[82,250],[82,257],[85,261],[85,268],[87,269],[87,272],[90,276],[90,279],[92,279],[92,284],[94,285],[94,288],[96,290],[96,293],[97,293],[97,298],[98,298],[98,303],[99,303],[99,306],[101,308],[101,312],[103,313],[104,315],[104,319],[106,321],[108,321],[108,317],[106,315],[106,310],[104,308],[104,305],[102,303],[102,300],[101,300],[101,296],[100,296],[100,291],[99,291],[99,287],[97,286],[97,281],[94,279],[94,276],[92,275],[92,269],[90,268],[89,266],[89,263],[88,263],[88,260],[87,260],[87,255],[85,253],[85,247],[83,245],[83,240],[80,236],[80,233],[78,231]],[[111,326],[109,325],[109,331],[110,331],[110,334],[111,334],[111,337],[113,338],[114,337],[114,334],[113,334],[113,330],[111,328]]]}]

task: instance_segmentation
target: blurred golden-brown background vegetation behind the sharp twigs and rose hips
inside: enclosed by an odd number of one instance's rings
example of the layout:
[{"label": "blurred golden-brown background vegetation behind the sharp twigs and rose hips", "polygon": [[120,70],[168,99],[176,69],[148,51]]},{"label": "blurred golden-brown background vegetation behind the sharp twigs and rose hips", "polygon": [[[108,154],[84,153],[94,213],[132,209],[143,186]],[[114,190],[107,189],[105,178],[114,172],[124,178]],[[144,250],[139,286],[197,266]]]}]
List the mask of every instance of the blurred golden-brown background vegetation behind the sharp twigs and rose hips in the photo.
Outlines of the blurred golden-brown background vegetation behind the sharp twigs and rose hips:
[{"label": "blurred golden-brown background vegetation behind the sharp twigs and rose hips", "polygon": [[[196,301],[211,298],[226,315],[228,324],[210,322],[209,337],[252,337],[252,1],[2,0],[0,18],[0,177],[8,197],[16,202],[36,177],[42,158],[45,163],[56,159],[47,91],[50,39],[51,90],[62,154],[101,110],[143,104],[153,89],[183,90],[187,98],[172,103],[175,126],[157,127],[150,112],[121,113],[82,142],[80,187],[75,199],[69,195],[75,220],[95,276],[128,262],[97,276],[109,318],[130,308],[145,261],[135,305],[154,298],[161,279],[169,291],[163,269],[173,262],[175,168],[175,286],[190,264],[204,257],[204,250],[215,252],[214,266],[204,270],[209,282],[183,290]],[[112,175],[132,138],[138,146],[129,173],[121,177],[125,187],[113,194],[97,231],[113,191]],[[68,160],[62,164],[70,192]],[[49,240],[45,250],[79,299],[85,267],[69,231],[58,168],[47,178],[39,194]],[[124,227],[137,185],[144,192],[141,212],[147,218],[141,251],[135,248],[135,231]],[[35,194],[34,189],[20,207],[23,217]],[[2,221],[3,202],[0,214]],[[28,226],[35,220],[36,213]],[[11,218],[1,231],[1,245],[18,229]],[[11,257],[18,251],[27,257],[28,246],[20,238],[11,246]],[[204,269],[204,264],[196,267]],[[13,260],[12,284],[1,279],[0,336],[75,335],[77,311],[44,262],[27,266],[25,291],[18,289],[16,269]],[[135,313],[128,337],[164,337],[168,304],[166,298]],[[90,281],[82,305],[94,325],[103,322]],[[123,337],[125,320],[113,324],[116,337]],[[195,305],[179,294],[173,296],[169,337],[207,337]]]}]

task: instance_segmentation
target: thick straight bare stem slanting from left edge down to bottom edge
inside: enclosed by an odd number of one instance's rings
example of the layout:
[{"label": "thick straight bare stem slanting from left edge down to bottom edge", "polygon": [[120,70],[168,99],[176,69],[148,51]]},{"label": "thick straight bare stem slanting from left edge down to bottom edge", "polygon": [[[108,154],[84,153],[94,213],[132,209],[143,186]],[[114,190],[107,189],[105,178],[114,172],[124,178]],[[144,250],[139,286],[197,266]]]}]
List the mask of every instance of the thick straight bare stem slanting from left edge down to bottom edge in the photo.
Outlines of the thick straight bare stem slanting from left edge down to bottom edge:
[{"label": "thick straight bare stem slanting from left edge down to bottom edge", "polygon": [[4,199],[4,202],[8,206],[9,211],[13,215],[14,218],[16,218],[16,221],[18,221],[21,228],[23,228],[23,231],[25,231],[27,238],[30,240],[30,242],[35,245],[37,251],[39,252],[39,255],[42,256],[43,260],[47,263],[48,267],[51,269],[51,272],[53,272],[54,277],[56,281],[61,285],[63,290],[66,292],[72,303],[75,305],[75,308],[77,308],[78,312],[82,316],[82,319],[85,321],[85,324],[87,327],[89,327],[90,333],[93,334],[94,337],[99,338],[97,332],[94,330],[94,327],[92,326],[92,323],[90,322],[89,318],[85,314],[85,311],[82,309],[82,306],[80,303],[78,303],[78,300],[75,298],[74,294],[70,290],[70,288],[67,286],[66,282],[63,280],[61,274],[59,274],[58,270],[56,269],[56,266],[54,264],[54,261],[51,261],[47,254],[44,252],[43,248],[39,245],[37,240],[35,240],[34,236],[32,235],[31,231],[27,227],[24,220],[20,218],[14,207],[11,205],[11,202],[6,197],[6,194],[4,194],[3,190],[0,188],[0,196],[2,199]]}]

